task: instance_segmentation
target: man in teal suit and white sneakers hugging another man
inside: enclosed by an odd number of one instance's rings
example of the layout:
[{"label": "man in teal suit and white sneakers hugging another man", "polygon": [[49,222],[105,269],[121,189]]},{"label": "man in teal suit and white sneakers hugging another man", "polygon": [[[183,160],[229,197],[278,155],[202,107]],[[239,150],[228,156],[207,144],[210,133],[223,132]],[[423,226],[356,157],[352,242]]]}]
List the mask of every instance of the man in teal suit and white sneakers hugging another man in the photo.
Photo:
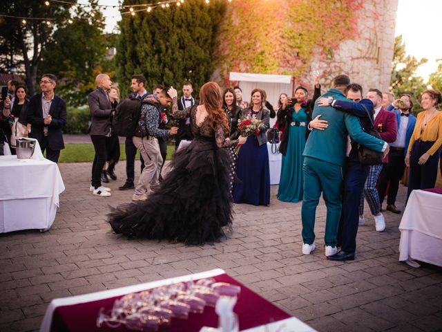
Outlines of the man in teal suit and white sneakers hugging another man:
[{"label": "man in teal suit and white sneakers hugging another man", "polygon": [[[334,77],[332,86],[323,98],[332,97],[334,100],[345,100],[343,91],[350,84],[347,75]],[[347,135],[349,134],[359,144],[381,152],[387,149],[383,140],[365,133],[361,124],[352,114],[337,111],[333,107],[318,107],[315,102],[312,118],[320,116],[323,123],[327,122],[327,130],[313,130],[307,140],[304,150],[304,196],[302,198],[302,253],[309,255],[315,244],[315,216],[321,191],[327,206],[325,222],[325,255],[336,254],[336,236],[343,203],[343,167],[345,151],[347,150]],[[315,120],[310,122],[309,129],[314,128]],[[324,121],[325,120],[325,121]]]}]

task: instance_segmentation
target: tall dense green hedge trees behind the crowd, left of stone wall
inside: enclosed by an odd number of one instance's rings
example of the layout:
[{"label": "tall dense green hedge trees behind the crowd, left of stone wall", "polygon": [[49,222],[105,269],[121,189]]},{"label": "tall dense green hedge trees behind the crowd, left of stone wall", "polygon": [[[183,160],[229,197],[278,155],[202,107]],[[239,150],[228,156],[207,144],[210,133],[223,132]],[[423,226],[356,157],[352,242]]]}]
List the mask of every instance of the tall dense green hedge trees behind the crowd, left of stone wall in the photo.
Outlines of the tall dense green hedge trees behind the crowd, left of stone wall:
[{"label": "tall dense green hedge trees behind the crowd, left of stone wall", "polygon": [[[146,3],[124,1],[124,5]],[[226,3],[185,1],[182,6],[155,8],[151,12],[123,15],[117,46],[117,73],[122,90],[128,91],[131,76],[144,74],[148,89],[156,84],[180,87],[193,83],[195,93],[215,69],[213,53]]]}]

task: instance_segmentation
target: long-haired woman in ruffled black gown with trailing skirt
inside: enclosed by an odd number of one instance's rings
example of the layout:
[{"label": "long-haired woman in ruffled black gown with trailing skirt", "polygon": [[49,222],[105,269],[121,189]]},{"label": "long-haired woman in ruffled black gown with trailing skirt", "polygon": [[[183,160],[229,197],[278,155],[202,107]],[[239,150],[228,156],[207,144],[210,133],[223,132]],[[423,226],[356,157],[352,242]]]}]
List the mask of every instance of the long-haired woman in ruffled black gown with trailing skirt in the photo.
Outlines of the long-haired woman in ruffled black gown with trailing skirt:
[{"label": "long-haired woman in ruffled black gown with trailing skirt", "polygon": [[169,239],[186,244],[213,243],[231,227],[229,152],[224,147],[244,144],[246,138],[226,140],[229,123],[222,109],[220,86],[201,87],[200,106],[177,108],[177,91],[169,89],[173,117],[190,116],[191,144],[175,154],[171,172],[146,201],[120,205],[108,216],[115,233],[128,239]]}]

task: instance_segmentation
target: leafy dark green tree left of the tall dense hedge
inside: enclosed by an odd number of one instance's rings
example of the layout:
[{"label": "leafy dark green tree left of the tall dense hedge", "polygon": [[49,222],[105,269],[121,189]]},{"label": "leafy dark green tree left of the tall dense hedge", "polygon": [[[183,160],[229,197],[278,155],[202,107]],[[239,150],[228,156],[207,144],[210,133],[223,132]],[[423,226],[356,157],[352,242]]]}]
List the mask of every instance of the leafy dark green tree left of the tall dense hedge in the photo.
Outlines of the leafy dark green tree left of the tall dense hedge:
[{"label": "leafy dark green tree left of the tall dense hedge", "polygon": [[[113,59],[106,59],[107,49],[115,46],[115,38],[103,34],[104,19],[95,9],[94,21],[75,19],[58,28],[52,42],[44,49],[39,75],[54,73],[60,80],[57,93],[70,105],[86,104],[86,95],[95,89],[95,76],[107,72],[113,75]],[[77,10],[77,17],[89,17],[91,12]]]}]

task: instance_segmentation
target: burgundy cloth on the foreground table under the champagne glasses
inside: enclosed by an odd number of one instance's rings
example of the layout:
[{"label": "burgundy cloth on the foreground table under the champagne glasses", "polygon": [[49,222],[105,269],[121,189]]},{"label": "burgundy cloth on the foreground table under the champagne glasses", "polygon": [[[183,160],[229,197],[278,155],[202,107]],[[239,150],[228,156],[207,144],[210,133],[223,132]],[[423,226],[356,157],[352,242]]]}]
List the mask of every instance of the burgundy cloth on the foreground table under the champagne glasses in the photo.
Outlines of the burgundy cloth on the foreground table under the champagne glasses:
[{"label": "burgundy cloth on the foreground table under the champagne glasses", "polygon": [[[216,275],[213,277],[217,282],[229,282],[230,284],[241,287],[241,293],[238,296],[238,302],[234,308],[240,321],[240,331],[252,327],[277,322],[291,317],[280,308],[271,304],[267,299],[254,293],[246,286],[240,284],[227,274]],[[99,309],[104,307],[106,311],[112,308],[115,299],[122,297],[110,297],[93,302],[82,304],[73,304],[70,306],[59,306],[55,308],[52,317],[50,331],[69,331],[69,332],[112,332],[112,331],[131,331],[123,324],[117,329],[112,329],[106,325],[97,327],[96,321]],[[160,326],[159,332],[186,331],[198,332],[202,326],[218,326],[218,315],[215,308],[206,306],[204,313],[189,313],[187,320],[173,318],[169,326]]]}]

